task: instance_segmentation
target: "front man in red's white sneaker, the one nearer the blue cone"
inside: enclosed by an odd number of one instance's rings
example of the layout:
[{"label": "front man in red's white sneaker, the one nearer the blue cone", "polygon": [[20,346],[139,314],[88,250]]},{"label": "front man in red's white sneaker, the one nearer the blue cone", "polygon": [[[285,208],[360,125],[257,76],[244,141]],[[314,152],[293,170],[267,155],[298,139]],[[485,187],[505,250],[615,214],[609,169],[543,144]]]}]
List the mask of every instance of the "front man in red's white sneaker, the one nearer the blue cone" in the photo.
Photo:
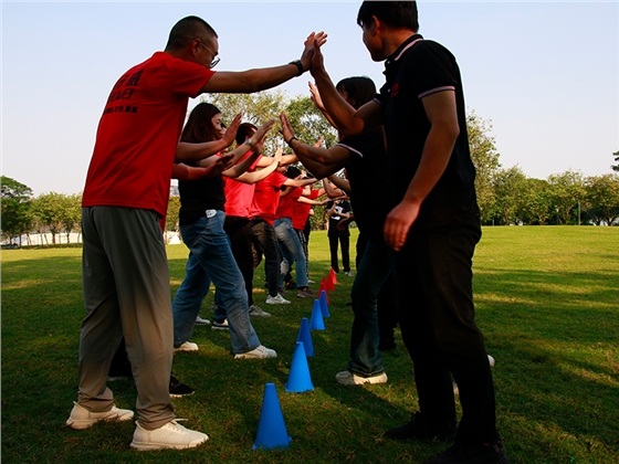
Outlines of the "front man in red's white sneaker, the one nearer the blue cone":
[{"label": "front man in red's white sneaker, the one nearer the blue cone", "polygon": [[139,451],[196,447],[209,440],[209,435],[180,425],[177,420],[155,430],[143,429],[136,421],[136,430],[130,446]]}]

